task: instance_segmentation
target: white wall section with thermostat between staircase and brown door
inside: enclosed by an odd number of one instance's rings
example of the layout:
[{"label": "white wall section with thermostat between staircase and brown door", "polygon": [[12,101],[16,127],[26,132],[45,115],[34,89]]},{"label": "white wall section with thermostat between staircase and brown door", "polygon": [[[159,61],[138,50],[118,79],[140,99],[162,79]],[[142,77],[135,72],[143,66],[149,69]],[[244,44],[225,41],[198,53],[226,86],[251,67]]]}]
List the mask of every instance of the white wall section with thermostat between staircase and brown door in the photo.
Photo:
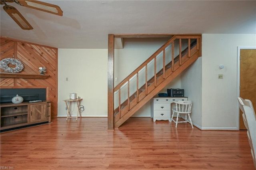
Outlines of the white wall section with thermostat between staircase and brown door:
[{"label": "white wall section with thermostat between staircase and brown door", "polygon": [[[239,128],[238,46],[256,46],[256,34],[203,34],[202,129]],[[219,69],[220,64],[224,69]],[[223,74],[223,79],[218,79],[218,74]]]}]

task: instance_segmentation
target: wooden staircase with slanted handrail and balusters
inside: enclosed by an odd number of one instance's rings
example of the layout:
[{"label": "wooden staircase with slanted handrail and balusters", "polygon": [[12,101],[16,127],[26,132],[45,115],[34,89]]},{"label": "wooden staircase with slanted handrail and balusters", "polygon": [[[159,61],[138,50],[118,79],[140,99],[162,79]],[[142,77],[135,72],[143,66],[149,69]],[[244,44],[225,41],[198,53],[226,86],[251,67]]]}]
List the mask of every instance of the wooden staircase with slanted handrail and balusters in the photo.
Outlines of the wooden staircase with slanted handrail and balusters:
[{"label": "wooden staircase with slanted handrail and balusters", "polygon": [[[201,35],[175,35],[113,89],[108,130],[118,128],[201,55]],[[110,111],[110,110],[108,110]],[[114,125],[112,125],[112,123]]]}]

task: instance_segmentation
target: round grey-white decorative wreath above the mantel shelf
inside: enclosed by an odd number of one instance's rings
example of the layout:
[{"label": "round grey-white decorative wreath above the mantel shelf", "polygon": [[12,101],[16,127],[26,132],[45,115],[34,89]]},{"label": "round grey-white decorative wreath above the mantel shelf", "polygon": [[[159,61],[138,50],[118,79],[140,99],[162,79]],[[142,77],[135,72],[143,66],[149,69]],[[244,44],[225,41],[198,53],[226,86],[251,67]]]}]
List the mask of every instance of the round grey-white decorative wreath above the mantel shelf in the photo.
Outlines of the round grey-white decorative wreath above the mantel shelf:
[{"label": "round grey-white decorative wreath above the mantel shelf", "polygon": [[[9,64],[16,65],[16,67],[9,67]],[[18,73],[23,70],[24,65],[22,62],[15,58],[4,58],[0,61],[0,68],[9,73]]]}]

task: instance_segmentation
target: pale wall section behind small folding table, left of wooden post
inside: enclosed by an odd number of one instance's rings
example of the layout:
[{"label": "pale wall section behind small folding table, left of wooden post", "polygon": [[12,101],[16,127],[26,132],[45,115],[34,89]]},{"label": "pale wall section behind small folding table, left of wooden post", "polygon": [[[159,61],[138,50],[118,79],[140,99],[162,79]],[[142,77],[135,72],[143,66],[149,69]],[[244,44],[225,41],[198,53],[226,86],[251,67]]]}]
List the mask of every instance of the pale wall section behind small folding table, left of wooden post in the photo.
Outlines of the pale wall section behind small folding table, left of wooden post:
[{"label": "pale wall section behind small folding table, left of wooden post", "polygon": [[83,117],[108,115],[108,49],[58,49],[58,117],[66,117],[69,93],[83,98]]}]

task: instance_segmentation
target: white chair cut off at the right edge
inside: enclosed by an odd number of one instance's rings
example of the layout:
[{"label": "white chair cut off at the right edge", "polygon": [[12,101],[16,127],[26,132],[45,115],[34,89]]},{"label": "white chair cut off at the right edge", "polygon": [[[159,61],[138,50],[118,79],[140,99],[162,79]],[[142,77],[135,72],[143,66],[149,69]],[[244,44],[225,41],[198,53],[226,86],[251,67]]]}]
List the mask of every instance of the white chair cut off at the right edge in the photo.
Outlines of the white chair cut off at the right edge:
[{"label": "white chair cut off at the right edge", "polygon": [[248,141],[251,147],[252,159],[256,168],[256,114],[252,102],[238,97],[239,107],[243,112],[242,117],[247,129]]}]

